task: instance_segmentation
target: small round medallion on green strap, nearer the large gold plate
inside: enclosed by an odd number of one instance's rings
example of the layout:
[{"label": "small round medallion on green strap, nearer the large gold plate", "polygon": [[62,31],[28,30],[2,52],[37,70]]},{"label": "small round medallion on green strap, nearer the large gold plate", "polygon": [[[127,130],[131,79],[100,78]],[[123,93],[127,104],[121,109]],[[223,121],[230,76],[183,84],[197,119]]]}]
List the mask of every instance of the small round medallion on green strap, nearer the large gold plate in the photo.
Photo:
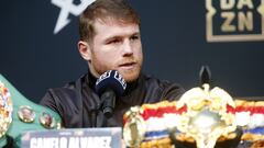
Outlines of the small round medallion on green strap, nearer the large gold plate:
[{"label": "small round medallion on green strap, nearer the large gold plate", "polygon": [[18,115],[24,123],[32,123],[35,119],[35,112],[30,106],[20,106]]}]

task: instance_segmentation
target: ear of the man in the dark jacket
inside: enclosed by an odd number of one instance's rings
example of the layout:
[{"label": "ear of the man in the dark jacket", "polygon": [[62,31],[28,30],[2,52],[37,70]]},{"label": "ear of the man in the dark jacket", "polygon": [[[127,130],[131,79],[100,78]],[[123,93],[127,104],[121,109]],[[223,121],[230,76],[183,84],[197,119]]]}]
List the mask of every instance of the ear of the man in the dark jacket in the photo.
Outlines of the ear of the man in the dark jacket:
[{"label": "ear of the man in the dark jacket", "polygon": [[90,60],[91,58],[91,50],[90,50],[90,46],[87,42],[84,41],[79,41],[78,42],[78,49],[80,53],[80,56],[85,59],[85,60]]}]

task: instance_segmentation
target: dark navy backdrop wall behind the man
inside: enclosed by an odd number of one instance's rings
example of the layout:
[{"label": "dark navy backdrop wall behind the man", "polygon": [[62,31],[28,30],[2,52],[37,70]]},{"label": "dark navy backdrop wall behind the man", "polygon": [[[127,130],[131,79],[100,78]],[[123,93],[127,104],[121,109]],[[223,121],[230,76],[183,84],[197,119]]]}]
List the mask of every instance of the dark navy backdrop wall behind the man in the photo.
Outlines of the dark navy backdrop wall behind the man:
[{"label": "dark navy backdrop wall behind the man", "polygon": [[[142,19],[143,71],[190,89],[198,86],[200,67],[208,65],[213,84],[231,95],[264,95],[264,23],[257,11],[261,2],[227,9],[219,1],[129,0]],[[216,8],[213,23],[207,18],[207,4]],[[70,22],[54,34],[59,12],[51,0],[10,0],[0,4],[0,72],[34,102],[48,88],[62,87],[88,69],[77,50],[77,18],[69,13]],[[234,14],[230,23],[223,13]],[[243,16],[252,27],[239,31]],[[224,25],[235,30],[223,32]],[[215,42],[207,37],[210,26],[217,36]],[[243,34],[250,36],[240,37]]]}]

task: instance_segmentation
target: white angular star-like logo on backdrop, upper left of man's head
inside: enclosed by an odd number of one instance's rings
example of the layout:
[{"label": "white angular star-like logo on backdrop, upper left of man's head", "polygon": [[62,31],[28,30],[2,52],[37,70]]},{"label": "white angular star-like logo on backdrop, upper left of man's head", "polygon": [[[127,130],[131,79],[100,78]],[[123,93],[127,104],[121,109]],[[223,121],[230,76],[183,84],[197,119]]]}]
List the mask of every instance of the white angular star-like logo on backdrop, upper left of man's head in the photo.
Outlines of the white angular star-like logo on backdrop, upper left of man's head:
[{"label": "white angular star-like logo on backdrop, upper left of man's head", "polygon": [[74,0],[52,0],[52,4],[61,8],[57,23],[53,33],[57,34],[70,22],[70,20],[68,19],[69,13],[78,16],[94,1],[96,0],[80,0],[80,3],[76,5],[74,3]]}]

